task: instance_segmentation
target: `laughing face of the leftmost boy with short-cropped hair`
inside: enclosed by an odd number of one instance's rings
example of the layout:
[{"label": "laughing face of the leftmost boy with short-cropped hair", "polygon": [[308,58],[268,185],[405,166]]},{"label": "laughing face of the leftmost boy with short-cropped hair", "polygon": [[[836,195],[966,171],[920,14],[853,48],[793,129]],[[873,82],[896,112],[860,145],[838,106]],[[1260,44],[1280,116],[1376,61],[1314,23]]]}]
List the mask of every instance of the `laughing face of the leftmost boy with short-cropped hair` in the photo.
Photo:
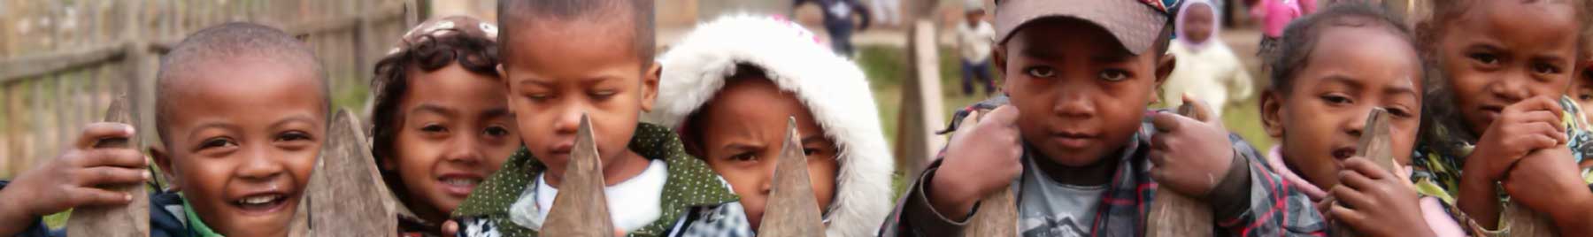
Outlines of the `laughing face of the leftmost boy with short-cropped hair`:
[{"label": "laughing face of the leftmost boy with short-cropped hair", "polygon": [[320,154],[325,95],[303,67],[234,59],[164,87],[166,146],[156,162],[225,235],[287,235]]}]

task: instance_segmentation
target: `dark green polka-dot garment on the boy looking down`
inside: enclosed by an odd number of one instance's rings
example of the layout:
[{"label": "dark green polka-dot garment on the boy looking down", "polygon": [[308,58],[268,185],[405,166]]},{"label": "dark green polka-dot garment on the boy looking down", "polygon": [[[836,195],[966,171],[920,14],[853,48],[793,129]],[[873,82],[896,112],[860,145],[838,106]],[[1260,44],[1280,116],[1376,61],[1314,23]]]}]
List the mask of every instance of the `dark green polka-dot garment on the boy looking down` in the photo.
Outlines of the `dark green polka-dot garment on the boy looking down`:
[{"label": "dark green polka-dot garment on the boy looking down", "polygon": [[[664,185],[663,200],[663,216],[653,221],[647,227],[628,232],[631,237],[655,237],[666,235],[669,229],[679,227],[677,224],[698,224],[698,223],[680,223],[677,220],[690,216],[695,210],[714,210],[714,208],[693,208],[693,207],[720,207],[736,202],[739,197],[730,191],[730,186],[720,180],[712,169],[707,167],[701,159],[691,157],[685,153],[680,145],[680,138],[675,132],[655,124],[637,124],[636,135],[631,137],[629,150],[636,151],[647,159],[661,159],[666,162],[669,170],[667,183]],[[487,177],[486,181],[478,186],[470,197],[465,199],[459,208],[454,210],[452,216],[459,220],[460,235],[510,235],[510,237],[534,237],[535,229],[521,227],[510,220],[508,207],[519,197],[521,191],[530,188],[530,181],[537,178],[538,173],[546,170],[546,167],[538,162],[529,151],[521,148],[497,173]],[[736,218],[746,221],[746,213],[736,212]],[[742,227],[749,229],[749,227]],[[472,237],[475,237],[472,235]]]}]

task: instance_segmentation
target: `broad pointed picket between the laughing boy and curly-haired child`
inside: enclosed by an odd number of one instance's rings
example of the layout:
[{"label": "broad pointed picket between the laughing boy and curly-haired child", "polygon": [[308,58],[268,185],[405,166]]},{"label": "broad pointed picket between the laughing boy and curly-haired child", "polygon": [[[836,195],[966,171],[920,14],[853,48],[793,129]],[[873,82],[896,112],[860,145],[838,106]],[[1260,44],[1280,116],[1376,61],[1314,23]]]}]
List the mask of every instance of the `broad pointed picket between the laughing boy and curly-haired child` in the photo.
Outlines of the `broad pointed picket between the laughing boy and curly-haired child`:
[{"label": "broad pointed picket between the laughing boy and curly-haired child", "polygon": [[[358,118],[338,110],[299,210],[312,235],[397,235],[397,200],[376,169]],[[307,205],[307,208],[304,208]]]}]

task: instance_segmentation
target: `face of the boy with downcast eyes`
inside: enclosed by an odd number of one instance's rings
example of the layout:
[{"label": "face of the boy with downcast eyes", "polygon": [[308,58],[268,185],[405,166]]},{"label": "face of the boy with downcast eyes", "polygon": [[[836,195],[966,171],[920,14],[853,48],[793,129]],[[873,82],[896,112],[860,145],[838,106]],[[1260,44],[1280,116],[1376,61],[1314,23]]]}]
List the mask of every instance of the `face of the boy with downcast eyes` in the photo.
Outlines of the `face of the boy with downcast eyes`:
[{"label": "face of the boy with downcast eyes", "polygon": [[640,113],[653,107],[658,78],[644,73],[629,24],[529,22],[503,41],[513,48],[502,65],[510,110],[526,148],[548,165],[550,177],[564,175],[581,113],[593,121],[605,169],[620,157],[636,157],[626,145]]}]

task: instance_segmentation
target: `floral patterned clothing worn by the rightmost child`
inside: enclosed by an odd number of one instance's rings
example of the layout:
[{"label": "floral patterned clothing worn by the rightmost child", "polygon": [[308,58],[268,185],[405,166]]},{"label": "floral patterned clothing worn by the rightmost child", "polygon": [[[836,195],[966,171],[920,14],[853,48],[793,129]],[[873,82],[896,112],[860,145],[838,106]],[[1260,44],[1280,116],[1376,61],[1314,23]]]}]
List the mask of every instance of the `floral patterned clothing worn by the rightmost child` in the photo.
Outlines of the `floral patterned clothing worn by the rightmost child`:
[{"label": "floral patterned clothing worn by the rightmost child", "polygon": [[[1571,150],[1571,156],[1577,162],[1582,162],[1582,159],[1593,151],[1593,134],[1588,134],[1588,130],[1583,129],[1588,122],[1579,116],[1582,115],[1582,108],[1577,107],[1575,100],[1571,97],[1560,97],[1560,108],[1564,111],[1561,115],[1561,126],[1569,127],[1566,129],[1566,148]],[[1450,134],[1442,126],[1435,127],[1438,129],[1438,134]],[[1424,142],[1418,142],[1418,146],[1413,151],[1415,154],[1411,154],[1411,167],[1415,169],[1415,173],[1411,173],[1410,178],[1416,183],[1416,192],[1443,200],[1450,216],[1453,216],[1456,223],[1467,226],[1472,234],[1509,234],[1509,227],[1502,224],[1502,220],[1501,229],[1489,231],[1478,226],[1470,216],[1461,212],[1458,205],[1454,205],[1454,197],[1458,197],[1461,191],[1461,170],[1466,167],[1466,156],[1470,156],[1475,146],[1472,143],[1464,143],[1461,151],[1456,151],[1458,154],[1445,154]],[[1588,181],[1588,178],[1593,178],[1588,175],[1588,170],[1582,170],[1582,177],[1583,183],[1593,183]],[[1502,197],[1502,202],[1509,200],[1504,192],[1499,196]]]}]

